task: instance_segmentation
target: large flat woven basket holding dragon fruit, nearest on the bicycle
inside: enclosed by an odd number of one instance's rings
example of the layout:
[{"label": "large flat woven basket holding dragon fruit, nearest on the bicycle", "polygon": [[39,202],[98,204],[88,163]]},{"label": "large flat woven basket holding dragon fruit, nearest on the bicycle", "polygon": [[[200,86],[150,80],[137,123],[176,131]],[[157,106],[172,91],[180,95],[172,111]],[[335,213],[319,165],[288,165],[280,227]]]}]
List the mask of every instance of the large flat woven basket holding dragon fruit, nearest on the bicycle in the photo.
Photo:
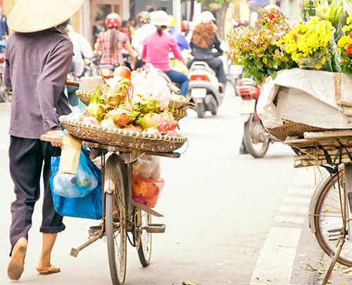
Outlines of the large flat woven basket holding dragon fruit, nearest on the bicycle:
[{"label": "large flat woven basket holding dragon fruit, nearest on the bicycle", "polygon": [[187,142],[185,137],[170,137],[169,135],[150,135],[120,128],[106,128],[91,124],[83,124],[77,120],[61,116],[59,121],[71,135],[82,140],[89,140],[105,145],[116,145],[131,150],[148,152],[172,152]]}]

